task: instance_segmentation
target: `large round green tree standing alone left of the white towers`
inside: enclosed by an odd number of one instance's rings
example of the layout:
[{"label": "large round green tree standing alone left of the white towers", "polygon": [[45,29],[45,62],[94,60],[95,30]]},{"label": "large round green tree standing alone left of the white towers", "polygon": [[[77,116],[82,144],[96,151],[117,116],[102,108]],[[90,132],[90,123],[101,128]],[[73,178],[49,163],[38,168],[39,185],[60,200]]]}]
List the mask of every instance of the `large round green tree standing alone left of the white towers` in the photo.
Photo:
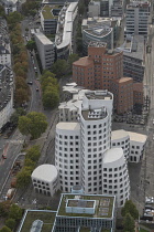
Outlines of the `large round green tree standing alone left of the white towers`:
[{"label": "large round green tree standing alone left of the white towers", "polygon": [[32,139],[38,138],[47,128],[46,117],[42,113],[31,112],[19,117],[19,130],[23,135],[31,135]]}]

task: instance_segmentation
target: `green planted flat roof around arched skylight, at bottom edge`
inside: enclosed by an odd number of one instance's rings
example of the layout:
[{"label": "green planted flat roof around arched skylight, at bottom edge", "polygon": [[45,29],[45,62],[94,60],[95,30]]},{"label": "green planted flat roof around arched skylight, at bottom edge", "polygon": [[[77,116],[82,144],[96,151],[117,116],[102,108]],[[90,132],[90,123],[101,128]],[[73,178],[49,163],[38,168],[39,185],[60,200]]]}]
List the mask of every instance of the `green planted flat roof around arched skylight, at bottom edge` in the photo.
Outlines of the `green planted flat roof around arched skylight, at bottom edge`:
[{"label": "green planted flat roof around arched skylight, at bottom edge", "polygon": [[21,232],[28,232],[30,231],[32,223],[36,220],[40,219],[43,221],[43,228],[42,232],[51,232],[53,228],[53,223],[55,221],[55,212],[44,212],[44,211],[29,211],[26,214],[26,218],[24,220],[23,226]]}]

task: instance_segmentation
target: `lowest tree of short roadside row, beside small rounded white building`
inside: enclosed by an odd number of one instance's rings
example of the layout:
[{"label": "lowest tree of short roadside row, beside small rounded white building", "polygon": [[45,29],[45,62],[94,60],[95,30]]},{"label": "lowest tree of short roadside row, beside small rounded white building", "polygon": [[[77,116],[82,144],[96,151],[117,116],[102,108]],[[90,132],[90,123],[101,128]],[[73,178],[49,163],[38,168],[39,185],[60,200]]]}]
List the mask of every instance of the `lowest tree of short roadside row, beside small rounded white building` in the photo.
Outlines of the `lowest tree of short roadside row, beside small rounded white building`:
[{"label": "lowest tree of short roadside row, beside small rounded white building", "polygon": [[24,189],[29,186],[31,181],[31,173],[33,169],[30,167],[24,167],[21,169],[20,172],[16,175],[16,187],[19,189]]}]

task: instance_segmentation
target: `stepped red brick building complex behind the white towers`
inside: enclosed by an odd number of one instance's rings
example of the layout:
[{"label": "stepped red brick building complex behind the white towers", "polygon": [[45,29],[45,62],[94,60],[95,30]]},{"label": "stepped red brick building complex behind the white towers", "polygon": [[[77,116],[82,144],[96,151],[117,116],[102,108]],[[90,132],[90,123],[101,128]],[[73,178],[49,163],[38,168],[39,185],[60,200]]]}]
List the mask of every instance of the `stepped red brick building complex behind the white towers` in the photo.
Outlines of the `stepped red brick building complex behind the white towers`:
[{"label": "stepped red brick building complex behind the white towers", "polygon": [[108,89],[114,96],[114,109],[123,114],[135,103],[143,103],[143,85],[123,77],[123,52],[107,50],[100,42],[91,42],[88,56],[73,63],[73,81],[88,89]]}]

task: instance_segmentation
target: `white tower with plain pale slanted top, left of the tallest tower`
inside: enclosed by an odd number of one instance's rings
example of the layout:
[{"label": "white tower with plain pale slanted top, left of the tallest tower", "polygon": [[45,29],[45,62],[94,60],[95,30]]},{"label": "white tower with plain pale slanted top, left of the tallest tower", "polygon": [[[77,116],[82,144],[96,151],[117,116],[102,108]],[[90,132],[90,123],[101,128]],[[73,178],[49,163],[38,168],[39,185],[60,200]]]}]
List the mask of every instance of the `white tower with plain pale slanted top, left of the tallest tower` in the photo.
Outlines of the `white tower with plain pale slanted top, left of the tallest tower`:
[{"label": "white tower with plain pale slanted top, left of the tallest tower", "polygon": [[70,192],[80,184],[80,125],[58,123],[56,125],[55,166],[59,171],[59,186]]}]

